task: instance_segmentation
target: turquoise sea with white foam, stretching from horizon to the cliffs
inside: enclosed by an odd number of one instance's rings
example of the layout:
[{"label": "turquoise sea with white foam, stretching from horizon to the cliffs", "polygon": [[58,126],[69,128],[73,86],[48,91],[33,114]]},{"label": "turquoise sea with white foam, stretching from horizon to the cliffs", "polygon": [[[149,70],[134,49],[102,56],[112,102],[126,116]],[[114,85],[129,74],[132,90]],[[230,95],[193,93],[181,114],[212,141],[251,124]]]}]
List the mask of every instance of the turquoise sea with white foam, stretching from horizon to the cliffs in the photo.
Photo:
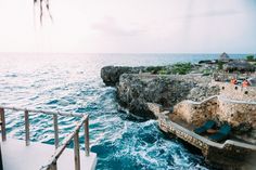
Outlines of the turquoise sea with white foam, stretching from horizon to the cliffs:
[{"label": "turquoise sea with white foam, stretching from horizon to the cliffs", "polygon": [[[210,169],[202,156],[166,138],[155,120],[118,110],[115,89],[105,87],[105,65],[166,65],[217,58],[217,54],[0,54],[0,104],[87,113],[97,169]],[[233,54],[232,57],[244,55]],[[8,112],[8,135],[24,139],[23,113]],[[74,118],[61,117],[60,136],[74,128]],[[31,140],[53,144],[52,117],[30,115]],[[82,133],[81,133],[82,134]],[[82,138],[80,139],[82,144]],[[82,146],[82,145],[81,145]]]}]

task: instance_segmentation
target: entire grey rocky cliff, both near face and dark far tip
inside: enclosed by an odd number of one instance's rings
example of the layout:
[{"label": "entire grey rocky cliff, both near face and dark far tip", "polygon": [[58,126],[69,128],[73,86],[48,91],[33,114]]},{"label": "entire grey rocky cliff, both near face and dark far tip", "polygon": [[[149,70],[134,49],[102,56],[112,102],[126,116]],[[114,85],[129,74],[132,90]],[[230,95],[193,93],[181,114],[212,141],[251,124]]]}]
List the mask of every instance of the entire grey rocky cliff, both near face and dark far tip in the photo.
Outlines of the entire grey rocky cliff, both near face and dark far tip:
[{"label": "entire grey rocky cliff, both near face and dark far tip", "polygon": [[138,116],[155,117],[148,103],[157,103],[171,109],[183,100],[201,101],[219,93],[218,87],[209,86],[209,77],[137,74],[143,68],[104,67],[101,71],[101,77],[107,86],[116,86],[119,104]]}]

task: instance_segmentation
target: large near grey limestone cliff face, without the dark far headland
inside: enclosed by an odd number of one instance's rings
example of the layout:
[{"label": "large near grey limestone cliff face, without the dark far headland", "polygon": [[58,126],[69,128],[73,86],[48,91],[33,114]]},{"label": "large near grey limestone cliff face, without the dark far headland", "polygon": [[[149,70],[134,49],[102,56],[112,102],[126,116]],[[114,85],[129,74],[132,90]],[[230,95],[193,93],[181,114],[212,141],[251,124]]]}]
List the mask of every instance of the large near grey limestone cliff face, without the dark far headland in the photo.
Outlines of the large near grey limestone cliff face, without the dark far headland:
[{"label": "large near grey limestone cliff face, without the dark far headland", "polygon": [[[117,84],[117,100],[121,106],[128,108],[131,113],[138,116],[153,118],[154,114],[149,108],[148,103],[157,103],[165,108],[171,108],[177,103],[191,96],[191,89],[197,87],[200,83],[202,83],[200,79],[192,80],[190,76],[124,74],[120,76],[119,83]],[[215,95],[217,90],[213,89],[208,90],[205,88],[203,92]],[[195,93],[197,94],[197,92]],[[193,97],[197,99],[196,96]]]}]

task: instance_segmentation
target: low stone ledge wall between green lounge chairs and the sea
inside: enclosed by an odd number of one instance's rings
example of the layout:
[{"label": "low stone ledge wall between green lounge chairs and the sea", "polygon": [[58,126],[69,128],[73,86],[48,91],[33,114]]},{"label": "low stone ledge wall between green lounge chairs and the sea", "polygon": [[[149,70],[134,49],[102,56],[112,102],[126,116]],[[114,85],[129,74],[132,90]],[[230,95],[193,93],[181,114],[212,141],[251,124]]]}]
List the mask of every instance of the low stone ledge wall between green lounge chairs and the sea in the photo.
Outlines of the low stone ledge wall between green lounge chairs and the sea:
[{"label": "low stone ledge wall between green lounge chairs and the sea", "polygon": [[159,128],[175,134],[177,138],[190,143],[201,149],[207,161],[226,168],[252,169],[255,166],[252,157],[256,157],[256,146],[227,140],[225,143],[216,143],[201,136],[178,123],[167,120],[165,117],[158,119]]}]

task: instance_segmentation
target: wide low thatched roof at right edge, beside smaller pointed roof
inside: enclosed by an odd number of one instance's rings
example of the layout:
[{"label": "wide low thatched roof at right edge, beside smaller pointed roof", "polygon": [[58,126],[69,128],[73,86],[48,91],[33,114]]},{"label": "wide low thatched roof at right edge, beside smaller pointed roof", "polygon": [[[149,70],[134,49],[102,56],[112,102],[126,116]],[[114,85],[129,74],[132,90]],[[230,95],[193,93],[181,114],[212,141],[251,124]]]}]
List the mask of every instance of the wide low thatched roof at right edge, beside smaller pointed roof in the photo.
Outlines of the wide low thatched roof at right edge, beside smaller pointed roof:
[{"label": "wide low thatched roof at right edge, beside smaller pointed roof", "polygon": [[236,60],[223,65],[226,71],[255,71],[255,66],[244,60]]}]

